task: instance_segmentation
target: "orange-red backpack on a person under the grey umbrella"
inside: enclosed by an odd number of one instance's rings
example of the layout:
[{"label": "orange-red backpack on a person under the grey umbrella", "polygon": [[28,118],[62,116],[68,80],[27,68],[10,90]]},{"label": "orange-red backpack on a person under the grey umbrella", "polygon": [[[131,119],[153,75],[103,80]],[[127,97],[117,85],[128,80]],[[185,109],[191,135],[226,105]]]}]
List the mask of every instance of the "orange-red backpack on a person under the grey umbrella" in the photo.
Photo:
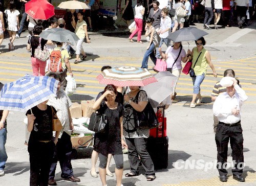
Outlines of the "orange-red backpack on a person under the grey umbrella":
[{"label": "orange-red backpack on a person under the grey umbrella", "polygon": [[61,50],[54,50],[50,54],[50,62],[48,64],[48,70],[53,73],[60,73],[62,69]]}]

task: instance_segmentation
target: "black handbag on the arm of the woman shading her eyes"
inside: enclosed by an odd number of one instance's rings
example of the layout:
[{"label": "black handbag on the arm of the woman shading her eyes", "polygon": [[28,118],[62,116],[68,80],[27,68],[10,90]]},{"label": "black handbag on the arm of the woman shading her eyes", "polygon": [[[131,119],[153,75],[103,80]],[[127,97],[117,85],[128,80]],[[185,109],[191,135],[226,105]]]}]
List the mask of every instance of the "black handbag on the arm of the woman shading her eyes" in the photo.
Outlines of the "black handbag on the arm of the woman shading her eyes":
[{"label": "black handbag on the arm of the woman shading her eyes", "polygon": [[88,126],[88,129],[91,131],[94,131],[96,133],[105,132],[105,126],[107,123],[106,115],[105,114],[100,114],[98,112],[93,112],[91,117],[90,117],[90,123]]}]

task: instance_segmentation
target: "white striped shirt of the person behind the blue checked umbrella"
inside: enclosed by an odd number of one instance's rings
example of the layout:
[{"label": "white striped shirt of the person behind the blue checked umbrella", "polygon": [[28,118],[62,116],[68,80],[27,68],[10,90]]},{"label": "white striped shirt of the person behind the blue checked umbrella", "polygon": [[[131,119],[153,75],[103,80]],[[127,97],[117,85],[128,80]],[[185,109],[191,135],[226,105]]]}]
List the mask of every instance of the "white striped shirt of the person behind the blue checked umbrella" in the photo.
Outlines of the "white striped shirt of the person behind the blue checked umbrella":
[{"label": "white striped shirt of the person behind the blue checked umbrella", "polygon": [[[57,117],[62,125],[62,130],[59,133],[59,138],[63,132],[71,135],[70,130],[70,118],[69,118],[69,107],[72,102],[64,90],[60,89],[57,92],[57,97],[52,97],[47,102],[47,105],[53,106],[57,110]],[[72,119],[71,119],[72,120]]]}]

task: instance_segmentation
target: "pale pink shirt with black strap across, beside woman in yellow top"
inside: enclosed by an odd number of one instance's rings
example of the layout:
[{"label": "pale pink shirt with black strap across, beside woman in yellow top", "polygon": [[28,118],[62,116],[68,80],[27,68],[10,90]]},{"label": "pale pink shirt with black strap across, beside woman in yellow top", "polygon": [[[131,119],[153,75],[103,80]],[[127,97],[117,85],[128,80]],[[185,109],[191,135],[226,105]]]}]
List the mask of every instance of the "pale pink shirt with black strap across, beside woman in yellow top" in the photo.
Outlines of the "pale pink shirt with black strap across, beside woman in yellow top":
[{"label": "pale pink shirt with black strap across, beside woman in yellow top", "polygon": [[[177,59],[178,55],[179,55],[179,52],[180,52],[180,48],[175,50],[172,46],[168,47],[165,54],[168,54],[167,56],[167,60],[166,60],[166,63],[167,63],[167,68],[172,68],[173,64],[174,64],[174,61]],[[176,63],[174,64],[173,66],[173,70],[177,70],[177,69],[181,69],[182,68],[182,65],[181,65],[181,58],[185,57],[186,56],[186,52],[184,49],[181,50],[180,52],[180,56],[178,58],[178,60],[176,61]]]}]

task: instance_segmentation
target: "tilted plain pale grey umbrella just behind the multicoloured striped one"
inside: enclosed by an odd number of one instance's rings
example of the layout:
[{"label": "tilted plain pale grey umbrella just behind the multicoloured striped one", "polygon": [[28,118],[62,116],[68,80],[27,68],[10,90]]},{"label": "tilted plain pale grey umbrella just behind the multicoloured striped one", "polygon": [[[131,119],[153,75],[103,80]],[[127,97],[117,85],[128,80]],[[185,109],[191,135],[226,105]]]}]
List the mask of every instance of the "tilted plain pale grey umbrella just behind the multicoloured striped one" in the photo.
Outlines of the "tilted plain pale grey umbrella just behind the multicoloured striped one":
[{"label": "tilted plain pale grey umbrella just behind the multicoloured striped one", "polygon": [[141,87],[146,91],[152,107],[156,108],[165,98],[173,94],[178,77],[168,71],[154,75],[158,82]]}]

